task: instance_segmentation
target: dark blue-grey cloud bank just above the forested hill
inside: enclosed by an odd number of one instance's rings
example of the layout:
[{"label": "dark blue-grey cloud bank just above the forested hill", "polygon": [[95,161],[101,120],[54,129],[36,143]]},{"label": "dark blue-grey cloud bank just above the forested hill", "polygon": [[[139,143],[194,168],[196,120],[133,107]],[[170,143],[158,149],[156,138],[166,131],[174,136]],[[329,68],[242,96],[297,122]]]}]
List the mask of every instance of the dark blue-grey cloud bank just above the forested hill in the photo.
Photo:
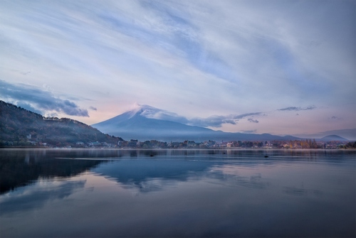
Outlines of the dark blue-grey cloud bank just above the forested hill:
[{"label": "dark blue-grey cloud bank just above the forested hill", "polygon": [[0,98],[38,113],[58,112],[70,116],[89,117],[87,109],[81,109],[68,99],[55,97],[51,92],[24,84],[11,84],[0,80]]}]

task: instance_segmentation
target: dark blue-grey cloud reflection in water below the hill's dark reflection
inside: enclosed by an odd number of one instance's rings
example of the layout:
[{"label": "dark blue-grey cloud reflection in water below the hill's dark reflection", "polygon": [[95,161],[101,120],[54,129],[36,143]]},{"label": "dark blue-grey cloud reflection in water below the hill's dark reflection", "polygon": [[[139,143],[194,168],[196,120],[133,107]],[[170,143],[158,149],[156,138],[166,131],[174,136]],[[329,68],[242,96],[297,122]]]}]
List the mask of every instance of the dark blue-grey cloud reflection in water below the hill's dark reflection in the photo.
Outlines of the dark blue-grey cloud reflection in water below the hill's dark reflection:
[{"label": "dark blue-grey cloud reflection in water below the hill's dark reflection", "polygon": [[23,212],[43,207],[50,200],[62,200],[84,188],[85,180],[39,180],[0,196],[1,214]]}]

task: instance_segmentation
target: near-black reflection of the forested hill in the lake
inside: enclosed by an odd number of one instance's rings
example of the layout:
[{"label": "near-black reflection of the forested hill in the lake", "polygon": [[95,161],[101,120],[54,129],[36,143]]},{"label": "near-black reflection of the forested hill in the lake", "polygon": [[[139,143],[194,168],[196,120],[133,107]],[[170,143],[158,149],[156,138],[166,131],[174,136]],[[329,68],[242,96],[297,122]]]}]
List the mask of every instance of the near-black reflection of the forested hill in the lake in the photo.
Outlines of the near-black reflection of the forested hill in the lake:
[{"label": "near-black reflection of the forested hill in the lake", "polygon": [[[68,157],[88,156],[83,151],[64,151]],[[103,161],[59,160],[56,150],[1,150],[0,193],[31,184],[38,178],[70,177]]]}]

